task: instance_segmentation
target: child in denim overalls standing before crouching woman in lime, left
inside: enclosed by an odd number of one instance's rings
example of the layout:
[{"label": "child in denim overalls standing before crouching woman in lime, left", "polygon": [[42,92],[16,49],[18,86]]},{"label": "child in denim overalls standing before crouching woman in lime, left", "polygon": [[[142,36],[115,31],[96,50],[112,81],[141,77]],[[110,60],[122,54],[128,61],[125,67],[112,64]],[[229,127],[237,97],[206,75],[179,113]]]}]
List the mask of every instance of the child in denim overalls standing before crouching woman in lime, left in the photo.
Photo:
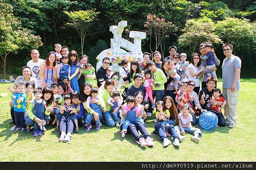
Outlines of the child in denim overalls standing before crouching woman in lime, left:
[{"label": "child in denim overalls standing before crouching woman in lime, left", "polygon": [[42,91],[40,89],[34,90],[34,96],[35,99],[30,101],[30,103],[33,105],[33,113],[36,117],[42,120],[42,122],[36,122],[34,124],[34,134],[33,136],[41,136],[42,135],[42,129],[44,128],[44,125],[46,122],[44,121],[44,111],[47,108],[46,102],[44,99],[41,99],[43,96]]}]

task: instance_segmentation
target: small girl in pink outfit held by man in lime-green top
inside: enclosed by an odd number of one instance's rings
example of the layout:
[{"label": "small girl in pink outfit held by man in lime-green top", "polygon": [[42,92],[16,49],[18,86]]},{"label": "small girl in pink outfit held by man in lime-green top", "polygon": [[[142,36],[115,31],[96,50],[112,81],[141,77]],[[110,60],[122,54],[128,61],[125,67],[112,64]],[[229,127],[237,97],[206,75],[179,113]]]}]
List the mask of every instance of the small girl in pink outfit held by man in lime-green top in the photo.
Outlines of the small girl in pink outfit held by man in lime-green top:
[{"label": "small girl in pink outfit held by man in lime-green top", "polygon": [[156,107],[156,104],[154,103],[154,99],[153,99],[153,91],[152,91],[152,86],[154,85],[152,83],[152,74],[150,70],[146,70],[144,72],[145,75],[145,81],[143,83],[145,89],[146,89],[146,95],[145,95],[145,99],[144,102],[147,103],[148,102],[148,98],[151,101],[152,104],[152,109]]}]

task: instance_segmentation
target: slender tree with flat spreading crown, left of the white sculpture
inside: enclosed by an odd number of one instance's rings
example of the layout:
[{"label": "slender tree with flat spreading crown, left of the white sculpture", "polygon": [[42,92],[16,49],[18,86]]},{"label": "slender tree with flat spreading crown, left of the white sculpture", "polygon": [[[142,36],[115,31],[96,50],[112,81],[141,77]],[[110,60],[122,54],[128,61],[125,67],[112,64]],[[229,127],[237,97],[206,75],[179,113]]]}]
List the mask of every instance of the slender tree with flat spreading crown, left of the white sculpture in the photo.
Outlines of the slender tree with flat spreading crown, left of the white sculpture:
[{"label": "slender tree with flat spreading crown, left of the white sculpture", "polygon": [[95,10],[87,11],[64,11],[65,14],[70,19],[70,23],[67,23],[67,26],[75,28],[81,38],[81,52],[83,55],[84,49],[84,39],[85,37],[92,35],[93,31],[91,29],[92,23],[96,20],[99,12]]}]

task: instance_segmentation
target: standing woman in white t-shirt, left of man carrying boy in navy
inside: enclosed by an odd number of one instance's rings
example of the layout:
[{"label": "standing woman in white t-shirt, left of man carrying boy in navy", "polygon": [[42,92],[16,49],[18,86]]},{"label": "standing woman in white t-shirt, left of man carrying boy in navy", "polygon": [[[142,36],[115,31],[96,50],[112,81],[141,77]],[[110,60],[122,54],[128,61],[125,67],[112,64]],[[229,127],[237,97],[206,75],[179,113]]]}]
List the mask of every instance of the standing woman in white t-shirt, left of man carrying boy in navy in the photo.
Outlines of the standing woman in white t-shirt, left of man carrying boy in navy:
[{"label": "standing woman in white t-shirt, left of man carrying boy in navy", "polygon": [[199,94],[200,90],[199,74],[204,71],[204,69],[205,67],[201,65],[199,54],[194,53],[192,55],[191,63],[188,65],[188,80],[193,80],[193,82],[195,82],[193,90],[196,94]]}]

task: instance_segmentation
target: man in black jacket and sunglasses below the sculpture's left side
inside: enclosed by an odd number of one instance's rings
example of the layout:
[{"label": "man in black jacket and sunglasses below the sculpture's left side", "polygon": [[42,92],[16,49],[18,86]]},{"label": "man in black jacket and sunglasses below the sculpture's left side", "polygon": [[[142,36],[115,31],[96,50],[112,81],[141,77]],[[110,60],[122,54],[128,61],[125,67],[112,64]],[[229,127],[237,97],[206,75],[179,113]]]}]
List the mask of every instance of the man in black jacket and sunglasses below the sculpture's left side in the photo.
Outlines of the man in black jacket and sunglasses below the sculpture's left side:
[{"label": "man in black jacket and sunglasses below the sculpture's left side", "polygon": [[110,59],[108,57],[104,57],[102,59],[102,66],[97,71],[97,85],[98,87],[101,86],[101,84],[108,79],[106,69],[108,68],[110,64]]}]

